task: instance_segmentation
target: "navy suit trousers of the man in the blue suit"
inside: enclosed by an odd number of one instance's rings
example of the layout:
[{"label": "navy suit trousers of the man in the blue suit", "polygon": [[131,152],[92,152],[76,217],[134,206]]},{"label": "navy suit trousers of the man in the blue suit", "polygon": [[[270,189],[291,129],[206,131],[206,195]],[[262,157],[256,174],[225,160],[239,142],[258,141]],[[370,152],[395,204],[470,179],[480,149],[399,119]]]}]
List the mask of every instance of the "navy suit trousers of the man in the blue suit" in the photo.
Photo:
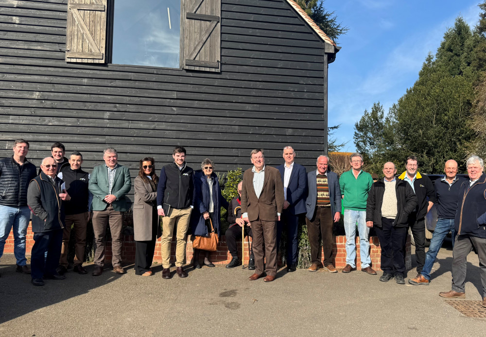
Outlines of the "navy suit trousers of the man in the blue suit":
[{"label": "navy suit trousers of the man in the blue suit", "polygon": [[284,209],[280,219],[277,222],[277,252],[280,248],[280,236],[285,229],[287,231],[287,266],[295,265],[299,253],[299,241],[297,239],[299,217]]}]

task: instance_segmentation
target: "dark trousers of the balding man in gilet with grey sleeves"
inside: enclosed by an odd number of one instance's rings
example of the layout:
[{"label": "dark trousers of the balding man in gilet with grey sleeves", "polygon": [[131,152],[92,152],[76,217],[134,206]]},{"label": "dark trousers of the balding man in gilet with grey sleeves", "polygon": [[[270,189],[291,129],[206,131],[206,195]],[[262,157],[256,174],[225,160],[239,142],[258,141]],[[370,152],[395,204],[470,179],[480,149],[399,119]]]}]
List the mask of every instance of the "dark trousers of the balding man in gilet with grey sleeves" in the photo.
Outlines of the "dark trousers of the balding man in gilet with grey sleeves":
[{"label": "dark trousers of the balding man in gilet with grey sleeves", "polygon": [[[41,279],[44,275],[57,274],[62,246],[62,229],[46,233],[34,233],[34,246],[31,252],[31,276]],[[47,252],[47,258],[45,253]]]}]

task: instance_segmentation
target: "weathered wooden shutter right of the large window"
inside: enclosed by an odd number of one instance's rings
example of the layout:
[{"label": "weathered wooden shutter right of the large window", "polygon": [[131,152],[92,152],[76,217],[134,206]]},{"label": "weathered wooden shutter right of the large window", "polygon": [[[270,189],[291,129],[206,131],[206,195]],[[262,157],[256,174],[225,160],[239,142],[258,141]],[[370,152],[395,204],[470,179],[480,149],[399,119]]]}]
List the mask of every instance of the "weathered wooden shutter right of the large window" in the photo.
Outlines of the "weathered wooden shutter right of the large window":
[{"label": "weathered wooden shutter right of the large window", "polygon": [[184,69],[220,71],[221,0],[185,0],[184,14]]}]

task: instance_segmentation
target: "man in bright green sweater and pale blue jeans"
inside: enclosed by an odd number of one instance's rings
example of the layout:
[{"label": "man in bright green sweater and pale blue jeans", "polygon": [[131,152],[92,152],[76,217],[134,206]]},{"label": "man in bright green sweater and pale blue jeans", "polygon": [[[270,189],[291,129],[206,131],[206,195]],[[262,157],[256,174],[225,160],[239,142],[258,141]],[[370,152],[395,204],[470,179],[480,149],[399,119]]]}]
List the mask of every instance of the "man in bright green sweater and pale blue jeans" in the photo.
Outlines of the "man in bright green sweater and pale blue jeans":
[{"label": "man in bright green sweater and pale blue jeans", "polygon": [[369,228],[366,227],[366,199],[373,185],[371,174],[364,172],[363,156],[359,153],[351,154],[351,168],[339,178],[341,196],[344,205],[344,229],[346,231],[346,267],[343,272],[356,270],[356,223],[360,236],[361,270],[370,275],[376,271],[370,267],[369,256]]}]

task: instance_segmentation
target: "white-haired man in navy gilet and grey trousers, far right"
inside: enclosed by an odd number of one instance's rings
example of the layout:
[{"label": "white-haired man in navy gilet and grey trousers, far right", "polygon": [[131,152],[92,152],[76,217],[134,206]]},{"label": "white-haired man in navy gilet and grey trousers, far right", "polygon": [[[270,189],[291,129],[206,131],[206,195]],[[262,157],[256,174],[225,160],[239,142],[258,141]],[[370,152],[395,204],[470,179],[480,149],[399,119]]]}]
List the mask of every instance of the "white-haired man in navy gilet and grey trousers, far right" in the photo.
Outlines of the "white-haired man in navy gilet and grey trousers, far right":
[{"label": "white-haired man in navy gilet and grey trousers, far right", "polygon": [[467,257],[476,248],[479,257],[479,274],[483,284],[483,307],[486,307],[486,174],[483,159],[469,157],[466,162],[469,182],[463,182],[455,216],[456,237],[452,249],[452,288],[441,292],[445,298],[466,297]]}]

